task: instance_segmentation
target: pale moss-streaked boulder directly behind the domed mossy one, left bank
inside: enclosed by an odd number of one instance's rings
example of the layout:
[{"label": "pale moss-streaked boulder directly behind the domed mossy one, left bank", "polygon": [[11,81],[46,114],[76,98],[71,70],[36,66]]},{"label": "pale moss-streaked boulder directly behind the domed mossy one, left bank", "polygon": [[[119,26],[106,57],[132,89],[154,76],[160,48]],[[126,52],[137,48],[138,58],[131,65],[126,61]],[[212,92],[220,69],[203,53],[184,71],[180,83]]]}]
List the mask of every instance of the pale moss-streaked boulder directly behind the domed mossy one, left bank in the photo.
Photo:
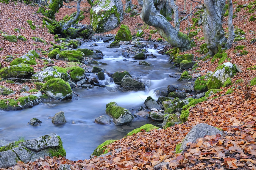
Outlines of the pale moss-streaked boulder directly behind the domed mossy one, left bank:
[{"label": "pale moss-streaked boulder directly behind the domed mossy one, left bank", "polygon": [[52,78],[61,78],[65,81],[68,80],[68,69],[54,66],[54,67],[46,67],[42,71],[38,71],[34,75],[32,75],[33,81],[48,81]]}]

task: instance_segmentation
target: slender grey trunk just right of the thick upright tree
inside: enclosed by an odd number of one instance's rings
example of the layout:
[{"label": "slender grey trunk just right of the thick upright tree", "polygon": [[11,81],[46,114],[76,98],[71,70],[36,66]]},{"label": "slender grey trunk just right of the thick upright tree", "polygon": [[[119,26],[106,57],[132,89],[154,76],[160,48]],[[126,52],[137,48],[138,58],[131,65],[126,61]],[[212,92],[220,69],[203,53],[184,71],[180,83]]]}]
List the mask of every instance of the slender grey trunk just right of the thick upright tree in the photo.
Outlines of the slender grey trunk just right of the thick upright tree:
[{"label": "slender grey trunk just right of the thick upright tree", "polygon": [[235,33],[234,33],[234,25],[232,23],[233,19],[233,4],[232,0],[227,0],[228,4],[228,40],[227,40],[227,48],[231,48],[231,45],[235,39]]}]

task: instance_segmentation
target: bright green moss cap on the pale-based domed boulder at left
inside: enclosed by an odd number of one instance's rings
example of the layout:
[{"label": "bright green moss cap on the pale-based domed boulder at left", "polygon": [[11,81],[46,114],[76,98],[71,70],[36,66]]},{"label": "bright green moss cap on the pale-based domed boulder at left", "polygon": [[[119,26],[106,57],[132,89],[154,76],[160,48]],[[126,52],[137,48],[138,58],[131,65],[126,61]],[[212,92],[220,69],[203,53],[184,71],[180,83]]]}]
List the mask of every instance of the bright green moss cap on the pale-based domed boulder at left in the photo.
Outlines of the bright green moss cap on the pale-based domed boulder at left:
[{"label": "bright green moss cap on the pale-based domed boulder at left", "polygon": [[61,78],[52,78],[42,85],[41,91],[51,91],[54,95],[62,93],[63,96],[72,94],[70,85]]}]

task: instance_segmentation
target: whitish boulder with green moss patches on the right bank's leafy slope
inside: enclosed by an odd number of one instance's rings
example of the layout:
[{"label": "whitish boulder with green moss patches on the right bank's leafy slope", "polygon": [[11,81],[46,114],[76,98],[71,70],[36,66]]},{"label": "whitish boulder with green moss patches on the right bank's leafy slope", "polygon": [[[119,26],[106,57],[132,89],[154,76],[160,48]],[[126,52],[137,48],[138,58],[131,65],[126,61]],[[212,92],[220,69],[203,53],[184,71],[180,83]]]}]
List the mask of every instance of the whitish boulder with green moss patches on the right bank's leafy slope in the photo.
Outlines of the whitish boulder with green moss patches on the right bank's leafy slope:
[{"label": "whitish boulder with green moss patches on the right bank's leafy slope", "polygon": [[[234,76],[237,72],[235,64],[226,62],[221,66],[218,66],[213,75],[207,81],[208,89],[219,89],[221,86],[226,86],[231,83],[230,77]],[[230,81],[230,82],[227,82]]]}]

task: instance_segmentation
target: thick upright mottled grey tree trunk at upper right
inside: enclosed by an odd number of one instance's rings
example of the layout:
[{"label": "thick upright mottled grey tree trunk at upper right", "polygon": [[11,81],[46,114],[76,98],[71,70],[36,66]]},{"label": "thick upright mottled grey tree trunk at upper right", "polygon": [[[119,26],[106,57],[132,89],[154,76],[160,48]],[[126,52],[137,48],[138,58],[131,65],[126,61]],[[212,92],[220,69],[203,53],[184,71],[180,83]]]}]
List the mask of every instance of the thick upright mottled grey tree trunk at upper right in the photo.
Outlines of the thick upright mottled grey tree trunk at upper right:
[{"label": "thick upright mottled grey tree trunk at upper right", "polygon": [[204,3],[202,27],[205,42],[212,54],[216,54],[221,49],[221,45],[227,42],[221,24],[225,0],[204,0]]}]

